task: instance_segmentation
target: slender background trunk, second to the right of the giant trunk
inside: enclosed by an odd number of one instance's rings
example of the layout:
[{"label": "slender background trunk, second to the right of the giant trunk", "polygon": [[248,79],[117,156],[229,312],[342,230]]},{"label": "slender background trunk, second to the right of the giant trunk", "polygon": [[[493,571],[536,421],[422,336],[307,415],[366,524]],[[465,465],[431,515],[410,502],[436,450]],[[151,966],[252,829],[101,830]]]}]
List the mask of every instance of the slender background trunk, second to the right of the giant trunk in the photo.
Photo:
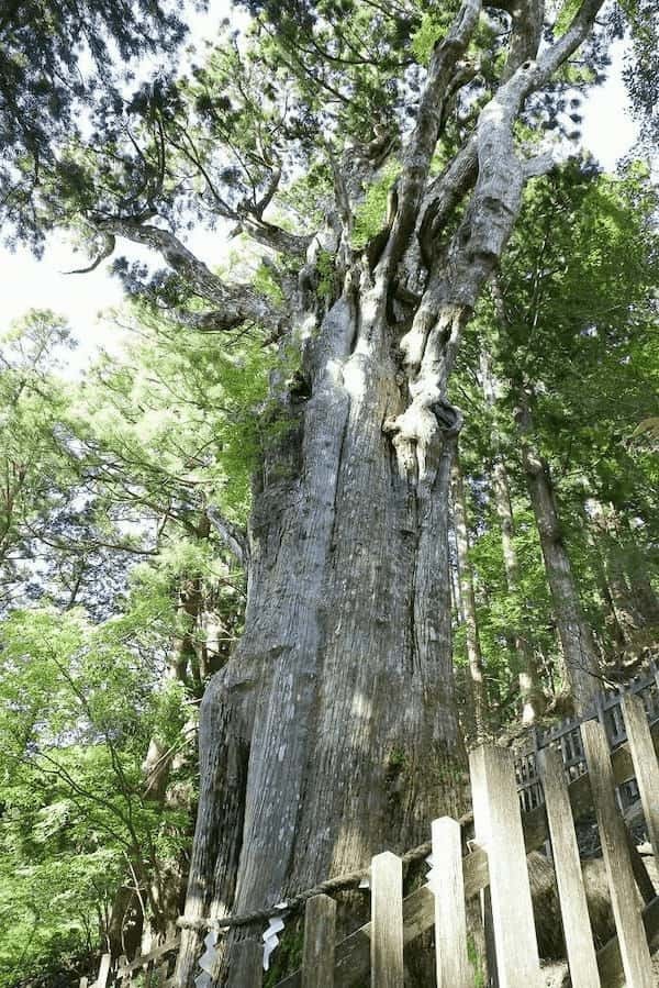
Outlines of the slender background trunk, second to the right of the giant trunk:
[{"label": "slender background trunk, second to the right of the giant trunk", "polygon": [[[496,426],[496,381],[492,373],[492,359],[487,349],[481,351],[481,378],[485,401],[492,412],[491,443],[493,449],[492,495],[499,522],[501,524],[501,542],[503,565],[509,593],[521,599],[520,566],[515,548],[515,519],[511,503],[511,491],[507,469],[502,455],[502,440]],[[522,698],[522,722],[532,724],[540,717],[546,707],[540,675],[535,657],[533,643],[528,639],[521,622],[515,623],[512,640],[518,663],[520,696]]]}]

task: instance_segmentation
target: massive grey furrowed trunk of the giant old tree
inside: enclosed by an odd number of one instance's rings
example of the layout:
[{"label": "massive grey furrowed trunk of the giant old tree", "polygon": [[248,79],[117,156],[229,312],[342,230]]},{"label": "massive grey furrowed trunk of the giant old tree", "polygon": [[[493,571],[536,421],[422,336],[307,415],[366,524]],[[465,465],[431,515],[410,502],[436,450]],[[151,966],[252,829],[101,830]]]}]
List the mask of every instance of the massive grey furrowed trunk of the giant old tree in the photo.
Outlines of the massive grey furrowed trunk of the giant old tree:
[{"label": "massive grey furrowed trunk of the giant old tree", "polygon": [[[187,914],[273,903],[427,837],[459,812],[448,487],[455,431],[401,468],[404,409],[378,306],[343,297],[305,347],[255,491],[245,634],[201,714]],[[189,978],[198,934],[185,931]],[[223,984],[225,975],[219,974]]]}]

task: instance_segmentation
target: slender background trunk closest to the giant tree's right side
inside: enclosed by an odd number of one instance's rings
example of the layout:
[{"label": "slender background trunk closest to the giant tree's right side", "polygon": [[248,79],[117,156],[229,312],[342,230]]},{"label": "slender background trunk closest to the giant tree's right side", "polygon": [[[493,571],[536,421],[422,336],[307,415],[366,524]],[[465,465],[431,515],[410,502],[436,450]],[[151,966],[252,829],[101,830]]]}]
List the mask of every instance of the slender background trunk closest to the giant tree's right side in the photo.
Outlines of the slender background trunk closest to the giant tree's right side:
[{"label": "slender background trunk closest to the giant tree's right side", "polygon": [[473,576],[469,559],[469,533],[467,530],[467,506],[465,502],[465,485],[462,471],[456,457],[453,468],[453,511],[458,551],[458,578],[460,601],[465,618],[467,641],[467,658],[469,662],[469,682],[471,687],[472,710],[468,721],[473,723],[473,741],[482,741],[485,733],[488,697],[484,681],[483,657],[478,634],[476,596]]}]

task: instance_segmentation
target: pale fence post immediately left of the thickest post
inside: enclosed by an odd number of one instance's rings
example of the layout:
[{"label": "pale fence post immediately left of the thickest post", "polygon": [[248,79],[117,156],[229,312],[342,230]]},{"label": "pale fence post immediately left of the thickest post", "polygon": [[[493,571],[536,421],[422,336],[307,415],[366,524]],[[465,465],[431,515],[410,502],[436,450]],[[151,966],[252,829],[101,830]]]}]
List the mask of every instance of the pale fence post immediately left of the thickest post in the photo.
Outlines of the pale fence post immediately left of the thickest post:
[{"label": "pale fence post immediately left of the thickest post", "polygon": [[471,988],[467,957],[467,918],[460,824],[450,817],[433,820],[433,880],[437,988]]}]

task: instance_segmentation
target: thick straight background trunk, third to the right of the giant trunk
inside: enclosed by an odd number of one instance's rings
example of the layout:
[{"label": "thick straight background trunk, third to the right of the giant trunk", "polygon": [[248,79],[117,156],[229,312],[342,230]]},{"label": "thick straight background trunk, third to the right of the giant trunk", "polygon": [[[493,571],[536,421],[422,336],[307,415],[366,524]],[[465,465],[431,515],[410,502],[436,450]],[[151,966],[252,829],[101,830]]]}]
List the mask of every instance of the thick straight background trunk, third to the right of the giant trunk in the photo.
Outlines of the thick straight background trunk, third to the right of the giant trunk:
[{"label": "thick straight background trunk, third to the right of the giant trunk", "polygon": [[562,533],[549,466],[533,445],[533,421],[528,400],[522,392],[517,421],[522,439],[522,459],[530,503],[540,536],[551,604],[560,639],[566,687],[577,711],[584,710],[601,688],[600,664],[593,635],[579,600],[572,567]]}]

